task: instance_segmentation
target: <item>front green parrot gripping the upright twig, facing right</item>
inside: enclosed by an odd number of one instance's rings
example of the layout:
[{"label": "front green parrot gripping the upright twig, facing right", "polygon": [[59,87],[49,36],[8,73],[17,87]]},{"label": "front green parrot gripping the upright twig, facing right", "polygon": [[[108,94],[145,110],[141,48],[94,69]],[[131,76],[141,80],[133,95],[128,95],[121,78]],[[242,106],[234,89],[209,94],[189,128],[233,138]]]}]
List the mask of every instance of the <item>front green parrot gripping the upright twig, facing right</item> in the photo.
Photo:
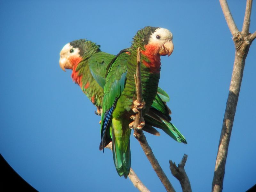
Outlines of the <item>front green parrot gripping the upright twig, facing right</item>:
[{"label": "front green parrot gripping the upright twig, facing right", "polygon": [[[141,48],[141,88],[144,103],[136,101],[134,74],[136,74],[138,47]],[[107,67],[102,103],[101,139],[103,148],[105,143],[112,141],[116,171],[125,178],[131,167],[130,135],[133,111],[141,108],[142,116],[149,117],[152,121],[159,118],[158,112],[161,113],[161,111],[154,113],[149,109],[157,97],[160,56],[170,56],[172,51],[172,33],[165,28],[148,26],[140,29],[133,37],[132,46],[120,51]],[[161,98],[157,97],[156,102],[157,100]],[[143,124],[145,122],[141,123]],[[186,143],[184,137],[183,139],[182,141]]]}]

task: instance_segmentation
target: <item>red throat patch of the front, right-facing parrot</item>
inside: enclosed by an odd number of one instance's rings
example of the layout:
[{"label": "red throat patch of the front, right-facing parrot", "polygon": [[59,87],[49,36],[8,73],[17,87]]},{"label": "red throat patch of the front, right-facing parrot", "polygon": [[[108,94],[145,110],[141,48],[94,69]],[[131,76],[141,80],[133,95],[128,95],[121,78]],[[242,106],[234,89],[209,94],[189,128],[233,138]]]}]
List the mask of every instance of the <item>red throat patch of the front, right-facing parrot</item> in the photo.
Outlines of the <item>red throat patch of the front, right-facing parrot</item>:
[{"label": "red throat patch of the front, right-facing parrot", "polygon": [[150,69],[151,73],[160,73],[160,55],[158,54],[159,46],[157,44],[145,45],[145,51],[141,50],[141,54],[145,55],[150,62],[142,60],[142,63]]}]

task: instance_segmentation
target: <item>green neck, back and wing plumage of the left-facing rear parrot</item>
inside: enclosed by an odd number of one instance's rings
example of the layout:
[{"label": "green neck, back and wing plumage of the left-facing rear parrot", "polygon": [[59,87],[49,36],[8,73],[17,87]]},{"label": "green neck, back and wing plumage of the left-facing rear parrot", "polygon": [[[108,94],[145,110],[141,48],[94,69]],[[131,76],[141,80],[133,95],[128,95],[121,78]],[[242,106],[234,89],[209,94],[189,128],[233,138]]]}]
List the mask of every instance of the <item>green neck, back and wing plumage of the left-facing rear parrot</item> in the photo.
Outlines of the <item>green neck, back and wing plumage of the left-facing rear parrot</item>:
[{"label": "green neck, back and wing plumage of the left-facing rear parrot", "polygon": [[78,73],[81,83],[77,83],[85,95],[100,109],[102,108],[106,66],[115,55],[101,52],[100,45],[85,39],[73,41],[70,45],[78,48],[82,57],[82,61],[73,70],[72,77],[74,73]]}]

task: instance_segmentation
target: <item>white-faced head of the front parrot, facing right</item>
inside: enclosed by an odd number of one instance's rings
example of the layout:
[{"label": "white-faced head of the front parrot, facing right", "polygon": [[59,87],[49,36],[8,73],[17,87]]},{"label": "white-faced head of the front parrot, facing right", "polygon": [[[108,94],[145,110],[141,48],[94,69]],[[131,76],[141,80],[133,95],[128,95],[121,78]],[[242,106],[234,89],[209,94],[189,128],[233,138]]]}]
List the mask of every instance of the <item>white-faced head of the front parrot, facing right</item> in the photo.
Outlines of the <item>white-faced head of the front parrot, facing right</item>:
[{"label": "white-faced head of the front parrot, facing right", "polygon": [[147,50],[153,55],[168,55],[173,52],[172,33],[165,28],[145,27],[133,38],[132,46]]}]

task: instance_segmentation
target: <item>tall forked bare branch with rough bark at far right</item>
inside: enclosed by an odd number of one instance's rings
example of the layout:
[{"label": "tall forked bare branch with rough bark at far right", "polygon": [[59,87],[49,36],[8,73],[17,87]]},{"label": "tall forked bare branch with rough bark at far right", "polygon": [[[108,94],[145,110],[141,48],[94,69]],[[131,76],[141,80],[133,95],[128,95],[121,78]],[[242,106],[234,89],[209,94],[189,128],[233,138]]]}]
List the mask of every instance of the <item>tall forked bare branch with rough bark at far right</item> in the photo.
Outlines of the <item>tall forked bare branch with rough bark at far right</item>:
[{"label": "tall forked bare branch with rough bark at far right", "polygon": [[228,100],[220,134],[219,149],[216,158],[214,176],[212,180],[212,191],[214,192],[220,192],[223,188],[225,165],[228,155],[228,145],[236,113],[236,105],[243,77],[245,59],[249,51],[250,45],[256,37],[256,32],[254,32],[253,34],[249,33],[252,0],[247,0],[246,2],[242,32],[238,31],[236,27],[236,24],[229,11],[227,1],[220,0],[220,5],[227,21],[228,28],[230,29],[230,32],[233,36],[236,51],[234,68],[228,93]]}]

